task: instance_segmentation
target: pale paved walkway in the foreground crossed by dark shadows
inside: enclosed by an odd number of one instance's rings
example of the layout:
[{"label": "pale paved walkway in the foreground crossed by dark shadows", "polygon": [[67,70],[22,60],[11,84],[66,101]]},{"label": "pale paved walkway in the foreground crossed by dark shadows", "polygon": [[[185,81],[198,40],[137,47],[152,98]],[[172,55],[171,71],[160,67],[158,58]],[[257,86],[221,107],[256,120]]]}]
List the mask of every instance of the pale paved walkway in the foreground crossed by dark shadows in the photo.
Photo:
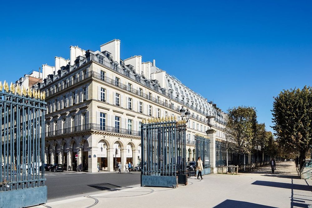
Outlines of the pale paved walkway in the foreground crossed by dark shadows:
[{"label": "pale paved walkway in the foreground crossed by dark shadows", "polygon": [[308,207],[312,204],[312,180],[299,179],[294,162],[277,164],[239,175],[215,174],[187,186],[123,187],[71,199],[58,199],[37,208],[77,207]]}]

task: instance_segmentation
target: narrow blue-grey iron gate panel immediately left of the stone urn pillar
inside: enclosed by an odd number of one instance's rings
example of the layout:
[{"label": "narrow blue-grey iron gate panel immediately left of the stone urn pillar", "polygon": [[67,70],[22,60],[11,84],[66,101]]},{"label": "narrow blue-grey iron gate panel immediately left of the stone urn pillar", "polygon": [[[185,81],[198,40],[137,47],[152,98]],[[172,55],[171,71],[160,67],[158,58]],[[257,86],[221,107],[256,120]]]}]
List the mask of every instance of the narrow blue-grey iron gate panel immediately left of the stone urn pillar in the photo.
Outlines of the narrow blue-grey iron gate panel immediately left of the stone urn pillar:
[{"label": "narrow blue-grey iron gate panel immediately left of the stone urn pillar", "polygon": [[[198,157],[202,158],[202,175],[210,174],[210,139],[202,134],[196,134],[195,140],[196,160]],[[197,174],[198,171],[195,171]]]}]

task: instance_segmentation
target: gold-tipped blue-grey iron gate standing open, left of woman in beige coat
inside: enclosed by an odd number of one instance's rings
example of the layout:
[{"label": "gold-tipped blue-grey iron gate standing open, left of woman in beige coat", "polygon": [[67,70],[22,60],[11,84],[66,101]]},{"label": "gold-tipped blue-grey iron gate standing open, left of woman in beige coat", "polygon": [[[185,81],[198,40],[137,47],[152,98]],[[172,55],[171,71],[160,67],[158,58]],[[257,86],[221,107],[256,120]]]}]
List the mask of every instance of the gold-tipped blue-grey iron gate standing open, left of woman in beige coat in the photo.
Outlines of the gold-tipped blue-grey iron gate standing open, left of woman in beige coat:
[{"label": "gold-tipped blue-grey iron gate standing open, left of woman in beige coat", "polygon": [[141,186],[187,184],[186,122],[176,117],[148,119],[141,126]]}]

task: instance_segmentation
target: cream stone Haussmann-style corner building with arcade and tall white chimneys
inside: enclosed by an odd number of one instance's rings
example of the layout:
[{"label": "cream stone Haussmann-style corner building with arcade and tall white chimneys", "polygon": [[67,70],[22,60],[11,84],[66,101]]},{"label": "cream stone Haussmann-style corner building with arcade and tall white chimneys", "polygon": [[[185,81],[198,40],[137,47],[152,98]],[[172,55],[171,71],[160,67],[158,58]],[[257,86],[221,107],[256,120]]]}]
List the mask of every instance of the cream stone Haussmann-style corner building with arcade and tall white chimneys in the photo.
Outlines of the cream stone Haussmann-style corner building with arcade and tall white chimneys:
[{"label": "cream stone Haussmann-style corner building with arcade and tall white chimneys", "polygon": [[[120,41],[112,40],[100,50],[70,47],[70,59],[55,57],[55,66],[36,86],[46,91],[46,163],[64,164],[67,170],[113,171],[115,161],[136,165],[141,157],[142,119],[180,117],[182,106],[191,115],[187,123],[187,158],[195,158],[195,134],[211,137],[211,167],[214,146],[224,138],[225,113],[176,77],[142,56],[120,59]],[[217,116],[208,127],[207,115]]]}]

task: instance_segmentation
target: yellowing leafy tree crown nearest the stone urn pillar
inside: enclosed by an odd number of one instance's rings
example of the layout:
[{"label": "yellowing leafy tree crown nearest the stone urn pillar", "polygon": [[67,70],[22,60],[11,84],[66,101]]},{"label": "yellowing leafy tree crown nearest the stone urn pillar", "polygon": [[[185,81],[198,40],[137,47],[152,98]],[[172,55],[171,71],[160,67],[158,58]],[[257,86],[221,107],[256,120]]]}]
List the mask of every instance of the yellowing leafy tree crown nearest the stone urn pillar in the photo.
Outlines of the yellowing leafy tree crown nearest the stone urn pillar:
[{"label": "yellowing leafy tree crown nearest the stone urn pillar", "polygon": [[239,106],[228,110],[227,131],[237,153],[250,153],[256,133],[256,110],[253,107]]}]

